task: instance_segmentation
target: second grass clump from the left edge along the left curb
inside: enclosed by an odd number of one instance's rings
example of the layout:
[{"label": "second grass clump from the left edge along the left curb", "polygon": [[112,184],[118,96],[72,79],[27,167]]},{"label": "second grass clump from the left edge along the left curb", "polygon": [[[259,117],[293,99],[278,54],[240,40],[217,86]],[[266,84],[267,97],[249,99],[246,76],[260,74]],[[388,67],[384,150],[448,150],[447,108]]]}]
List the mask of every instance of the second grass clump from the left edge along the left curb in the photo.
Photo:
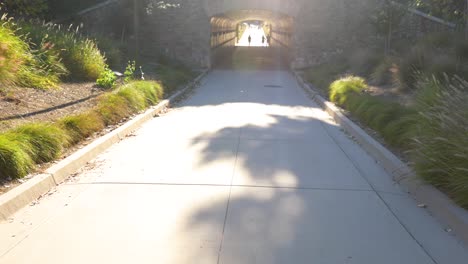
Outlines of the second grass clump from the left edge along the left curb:
[{"label": "second grass clump from the left edge along the left curb", "polygon": [[28,141],[32,147],[31,158],[36,163],[55,160],[69,142],[66,131],[52,124],[26,124],[14,129],[12,133],[21,135]]}]

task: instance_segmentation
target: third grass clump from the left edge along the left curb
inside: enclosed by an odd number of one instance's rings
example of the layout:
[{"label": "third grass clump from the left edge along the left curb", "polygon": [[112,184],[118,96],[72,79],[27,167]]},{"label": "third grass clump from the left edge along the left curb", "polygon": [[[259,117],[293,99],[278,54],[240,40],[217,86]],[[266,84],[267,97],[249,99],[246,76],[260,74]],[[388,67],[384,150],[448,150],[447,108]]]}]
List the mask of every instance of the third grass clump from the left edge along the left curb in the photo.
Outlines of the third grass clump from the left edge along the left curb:
[{"label": "third grass clump from the left edge along the left curb", "polygon": [[101,116],[94,111],[65,117],[58,123],[67,131],[72,144],[80,142],[105,126]]}]

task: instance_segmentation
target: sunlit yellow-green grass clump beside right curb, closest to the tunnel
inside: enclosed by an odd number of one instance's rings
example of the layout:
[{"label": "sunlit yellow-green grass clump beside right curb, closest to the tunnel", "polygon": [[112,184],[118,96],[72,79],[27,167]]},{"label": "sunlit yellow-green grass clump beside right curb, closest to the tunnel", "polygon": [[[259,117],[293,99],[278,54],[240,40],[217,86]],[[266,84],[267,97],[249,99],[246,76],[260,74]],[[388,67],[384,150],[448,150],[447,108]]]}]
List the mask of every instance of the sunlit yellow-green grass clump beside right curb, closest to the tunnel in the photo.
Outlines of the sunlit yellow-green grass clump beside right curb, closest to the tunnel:
[{"label": "sunlit yellow-green grass clump beside right curb, closest to the tunnel", "polygon": [[330,85],[330,100],[343,106],[350,94],[359,94],[368,88],[366,81],[361,77],[347,76],[334,81]]}]

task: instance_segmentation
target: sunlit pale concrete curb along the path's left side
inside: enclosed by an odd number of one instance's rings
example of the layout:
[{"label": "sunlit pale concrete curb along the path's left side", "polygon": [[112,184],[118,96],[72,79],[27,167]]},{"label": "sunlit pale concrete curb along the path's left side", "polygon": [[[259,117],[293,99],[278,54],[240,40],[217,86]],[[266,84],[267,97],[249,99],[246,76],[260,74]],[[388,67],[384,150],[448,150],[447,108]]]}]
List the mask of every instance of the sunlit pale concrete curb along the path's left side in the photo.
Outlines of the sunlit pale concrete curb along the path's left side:
[{"label": "sunlit pale concrete curb along the path's left side", "polygon": [[172,95],[169,99],[160,102],[158,105],[137,115],[116,130],[96,139],[91,144],[61,160],[59,163],[47,169],[44,174],[34,176],[29,181],[5,194],[2,194],[0,196],[0,221],[7,220],[19,209],[49,192],[52,188],[65,181],[71,174],[86,165],[86,163],[97,157],[113,144],[125,138],[131,132],[138,129],[146,121],[152,119],[165,107],[169,106],[188,90],[195,87],[208,72],[208,70],[204,71],[195,78],[194,81],[188,84],[184,89]]}]

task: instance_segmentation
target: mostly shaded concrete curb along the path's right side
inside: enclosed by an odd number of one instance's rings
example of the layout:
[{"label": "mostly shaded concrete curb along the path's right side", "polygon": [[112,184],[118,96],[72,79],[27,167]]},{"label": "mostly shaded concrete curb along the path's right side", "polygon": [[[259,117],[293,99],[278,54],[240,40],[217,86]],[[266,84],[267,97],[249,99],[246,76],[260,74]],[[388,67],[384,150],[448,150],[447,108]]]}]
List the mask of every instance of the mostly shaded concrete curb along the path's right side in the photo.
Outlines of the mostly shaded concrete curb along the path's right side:
[{"label": "mostly shaded concrete curb along the path's right side", "polygon": [[312,99],[330,114],[382,167],[417,201],[425,204],[429,212],[441,223],[454,230],[457,237],[468,245],[468,211],[457,206],[444,193],[419,179],[413,170],[387,148],[357,126],[333,103],[318,94],[302,77],[294,72],[299,85],[312,94]]}]

